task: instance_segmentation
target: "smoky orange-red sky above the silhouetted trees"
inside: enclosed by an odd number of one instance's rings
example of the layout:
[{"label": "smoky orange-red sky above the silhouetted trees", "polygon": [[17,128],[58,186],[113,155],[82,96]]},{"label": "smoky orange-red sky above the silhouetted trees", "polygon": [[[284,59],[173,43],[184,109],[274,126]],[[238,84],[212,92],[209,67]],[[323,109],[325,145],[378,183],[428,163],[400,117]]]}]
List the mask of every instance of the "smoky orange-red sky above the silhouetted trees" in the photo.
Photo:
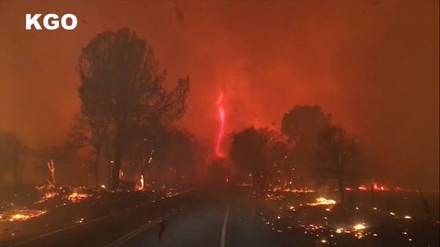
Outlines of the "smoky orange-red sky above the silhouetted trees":
[{"label": "smoky orange-red sky above the silhouetted trees", "polygon": [[[439,186],[438,1],[108,3],[0,1],[1,129],[34,147],[63,140],[79,106],[81,47],[129,27],[151,43],[168,85],[190,75],[179,124],[207,145],[220,91],[226,132],[279,128],[295,104],[319,104],[389,176]],[[25,31],[25,13],[38,12],[74,13],[78,27]]]}]

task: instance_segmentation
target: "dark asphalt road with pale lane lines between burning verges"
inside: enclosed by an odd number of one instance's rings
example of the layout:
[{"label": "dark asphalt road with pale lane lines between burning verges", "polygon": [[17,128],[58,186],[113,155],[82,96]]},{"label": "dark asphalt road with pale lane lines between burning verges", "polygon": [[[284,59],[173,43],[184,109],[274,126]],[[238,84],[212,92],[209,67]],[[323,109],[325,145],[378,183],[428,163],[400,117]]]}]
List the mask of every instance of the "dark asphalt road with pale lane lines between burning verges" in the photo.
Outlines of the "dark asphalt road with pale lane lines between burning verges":
[{"label": "dark asphalt road with pale lane lines between burning verges", "polygon": [[193,191],[13,246],[278,246],[252,197]]}]

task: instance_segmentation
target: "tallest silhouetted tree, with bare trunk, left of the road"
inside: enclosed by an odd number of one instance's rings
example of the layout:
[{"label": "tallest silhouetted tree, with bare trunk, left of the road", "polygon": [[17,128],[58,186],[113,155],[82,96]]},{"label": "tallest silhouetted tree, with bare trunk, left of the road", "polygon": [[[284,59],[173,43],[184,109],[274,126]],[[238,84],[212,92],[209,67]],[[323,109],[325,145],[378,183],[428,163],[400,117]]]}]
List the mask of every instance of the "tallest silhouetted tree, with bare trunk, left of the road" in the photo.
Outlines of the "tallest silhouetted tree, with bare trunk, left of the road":
[{"label": "tallest silhouetted tree, with bare trunk, left of the road", "polygon": [[151,121],[174,121],[186,110],[189,78],[181,78],[172,91],[164,89],[165,71],[159,71],[153,49],[128,29],[98,34],[78,58],[81,114],[109,122],[114,165],[111,189],[119,185],[130,130]]}]

